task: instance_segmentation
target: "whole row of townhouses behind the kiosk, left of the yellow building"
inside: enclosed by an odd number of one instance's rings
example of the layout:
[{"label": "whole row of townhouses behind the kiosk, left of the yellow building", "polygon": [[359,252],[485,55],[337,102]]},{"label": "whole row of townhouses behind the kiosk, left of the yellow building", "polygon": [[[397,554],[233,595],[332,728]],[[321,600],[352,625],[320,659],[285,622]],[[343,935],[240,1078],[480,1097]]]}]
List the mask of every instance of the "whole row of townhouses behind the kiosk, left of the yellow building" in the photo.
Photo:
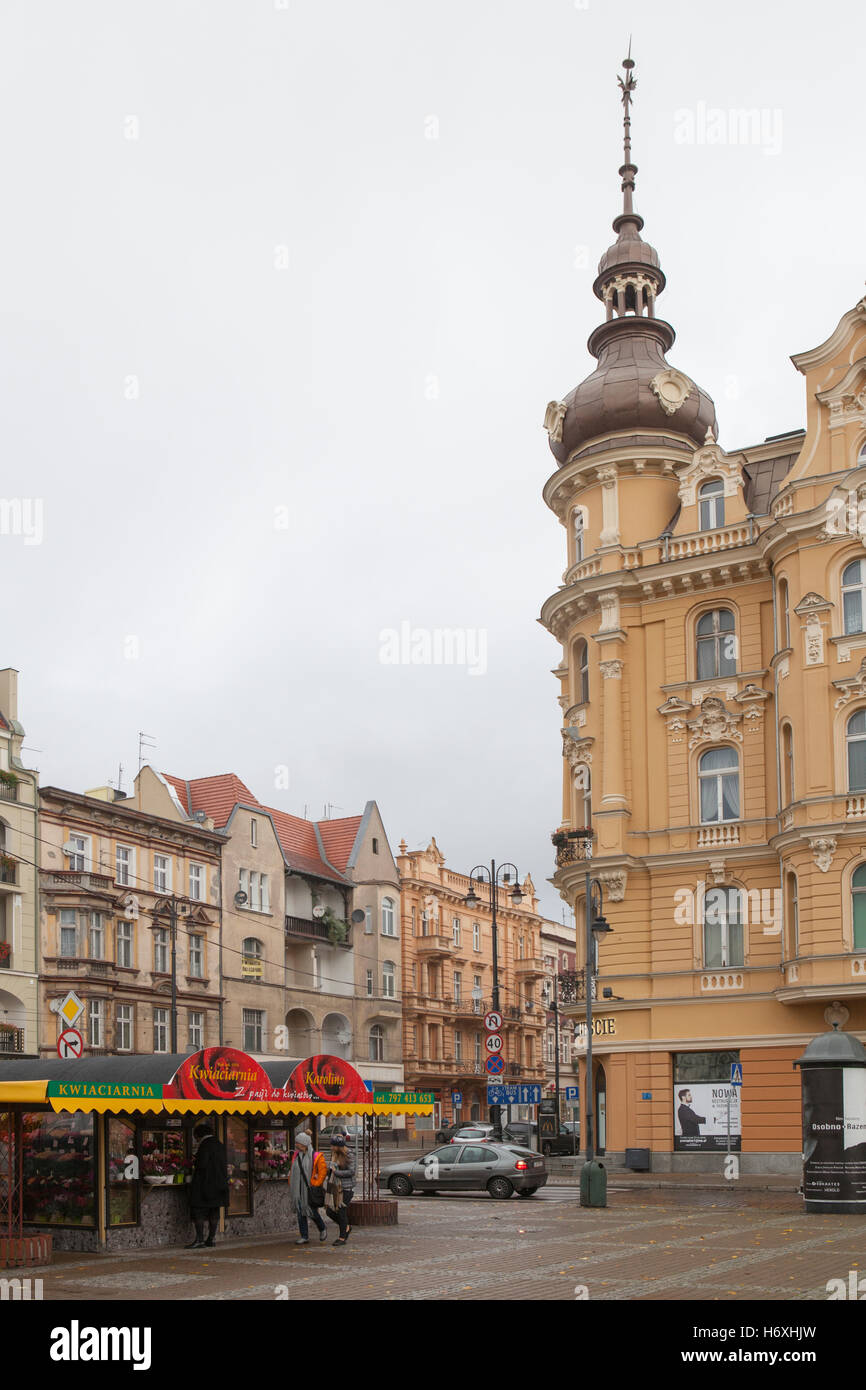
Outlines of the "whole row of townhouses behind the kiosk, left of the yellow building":
[{"label": "whole row of townhouses behind the kiosk, left of the yellow building", "polygon": [[[310,821],[234,773],[143,766],[133,791],[39,787],[0,673],[0,1052],[50,1055],[70,991],[85,1055],[329,1054],[374,1086],[487,1115],[489,902],[435,840],[391,852],[375,802]],[[530,877],[499,912],[505,1080],[546,1081],[548,962]],[[174,994],[174,1006],[172,1006]]]}]

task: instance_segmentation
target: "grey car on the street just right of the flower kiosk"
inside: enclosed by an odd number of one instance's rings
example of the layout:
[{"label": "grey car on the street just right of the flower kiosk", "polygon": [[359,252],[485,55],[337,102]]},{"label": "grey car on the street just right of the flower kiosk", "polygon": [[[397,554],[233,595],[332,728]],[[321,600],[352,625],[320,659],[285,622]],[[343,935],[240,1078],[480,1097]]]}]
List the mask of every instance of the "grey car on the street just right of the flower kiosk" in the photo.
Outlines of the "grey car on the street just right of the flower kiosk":
[{"label": "grey car on the street just right of the flower kiosk", "polygon": [[517,1193],[534,1197],[548,1182],[548,1168],[541,1154],[518,1144],[450,1143],[434,1148],[423,1158],[389,1163],[379,1172],[379,1187],[395,1197],[411,1193],[482,1193],[500,1201]]}]

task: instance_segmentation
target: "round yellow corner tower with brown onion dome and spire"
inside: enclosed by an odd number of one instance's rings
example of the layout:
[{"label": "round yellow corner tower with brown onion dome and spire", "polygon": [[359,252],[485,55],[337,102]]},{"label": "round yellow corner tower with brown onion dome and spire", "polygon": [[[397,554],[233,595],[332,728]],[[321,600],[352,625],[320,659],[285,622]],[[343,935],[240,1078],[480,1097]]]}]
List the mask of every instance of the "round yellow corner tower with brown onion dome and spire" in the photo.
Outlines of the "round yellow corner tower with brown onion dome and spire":
[{"label": "round yellow corner tower with brown onion dome and spire", "polygon": [[[630,631],[642,623],[641,567],[657,562],[662,538],[676,524],[680,475],[717,435],[710,396],[666,359],[676,334],[656,317],[664,272],[634,210],[631,57],[623,70],[623,210],[592,286],[605,306],[605,321],[588,341],[598,366],[545,414],[557,470],[544,496],[566,527],[569,559],[563,584],[541,614],[563,646],[555,671],[564,726],[560,831],[587,826],[592,816],[595,852],[616,870],[628,858],[637,751],[624,746],[624,720]],[[556,881],[574,901],[581,872],[564,866],[569,855],[560,835]]]}]

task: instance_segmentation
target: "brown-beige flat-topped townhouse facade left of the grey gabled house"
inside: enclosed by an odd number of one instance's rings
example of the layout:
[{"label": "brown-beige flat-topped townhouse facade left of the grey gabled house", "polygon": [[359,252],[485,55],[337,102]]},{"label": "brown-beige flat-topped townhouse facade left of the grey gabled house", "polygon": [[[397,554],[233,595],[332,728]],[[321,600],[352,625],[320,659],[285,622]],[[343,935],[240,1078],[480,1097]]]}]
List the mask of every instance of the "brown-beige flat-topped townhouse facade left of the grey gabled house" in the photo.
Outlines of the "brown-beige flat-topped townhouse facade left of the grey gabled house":
[{"label": "brown-beige flat-topped townhouse facade left of the grey gabled house", "polygon": [[43,787],[39,806],[39,1051],[56,1054],[68,991],[83,1004],[85,1056],[217,1044],[224,837],[147,813],[111,787]]}]

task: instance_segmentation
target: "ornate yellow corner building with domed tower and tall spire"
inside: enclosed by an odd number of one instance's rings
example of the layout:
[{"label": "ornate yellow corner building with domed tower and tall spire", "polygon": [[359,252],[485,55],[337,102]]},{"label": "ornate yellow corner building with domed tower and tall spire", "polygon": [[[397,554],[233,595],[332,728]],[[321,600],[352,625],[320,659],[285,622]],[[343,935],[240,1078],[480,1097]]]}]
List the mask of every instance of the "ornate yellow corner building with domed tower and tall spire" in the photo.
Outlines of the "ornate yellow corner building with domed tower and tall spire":
[{"label": "ornate yellow corner building with domed tower and tall spire", "polygon": [[594,1027],[609,1156],[717,1168],[730,1095],[742,1169],[795,1172],[794,1059],[831,1020],[866,1037],[866,299],[792,359],[806,430],[726,453],[710,398],[666,360],[632,85],[627,63],[598,367],[545,418],[569,546],[542,610],[563,652],[555,881],[581,924],[567,833],[591,817],[613,927]]}]

